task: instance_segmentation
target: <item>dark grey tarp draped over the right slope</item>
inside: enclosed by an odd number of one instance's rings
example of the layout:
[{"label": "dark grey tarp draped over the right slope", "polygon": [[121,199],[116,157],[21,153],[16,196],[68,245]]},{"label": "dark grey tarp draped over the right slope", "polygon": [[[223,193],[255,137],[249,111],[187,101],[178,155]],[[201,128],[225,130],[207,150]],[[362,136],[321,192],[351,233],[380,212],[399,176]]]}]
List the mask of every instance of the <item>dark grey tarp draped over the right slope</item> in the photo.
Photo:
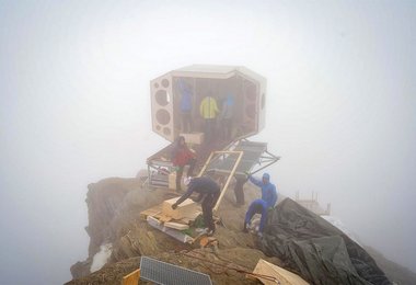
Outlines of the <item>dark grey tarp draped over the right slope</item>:
[{"label": "dark grey tarp draped over the right slope", "polygon": [[359,244],[290,198],[269,212],[261,248],[312,284],[392,284]]}]

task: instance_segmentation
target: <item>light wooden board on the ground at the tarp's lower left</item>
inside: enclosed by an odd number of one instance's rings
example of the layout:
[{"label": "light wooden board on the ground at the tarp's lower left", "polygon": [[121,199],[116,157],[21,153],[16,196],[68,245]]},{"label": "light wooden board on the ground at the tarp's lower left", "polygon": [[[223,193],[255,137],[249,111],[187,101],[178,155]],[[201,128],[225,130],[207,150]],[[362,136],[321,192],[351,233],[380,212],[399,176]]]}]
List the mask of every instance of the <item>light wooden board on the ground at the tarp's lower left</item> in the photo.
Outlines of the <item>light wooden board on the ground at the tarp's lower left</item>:
[{"label": "light wooden board on the ground at the tarp's lower left", "polygon": [[[308,285],[309,283],[301,278],[299,275],[291,273],[280,266],[269,263],[265,260],[259,260],[253,273],[266,276],[273,276],[279,281],[280,285]],[[265,285],[275,285],[276,282],[257,277]]]}]

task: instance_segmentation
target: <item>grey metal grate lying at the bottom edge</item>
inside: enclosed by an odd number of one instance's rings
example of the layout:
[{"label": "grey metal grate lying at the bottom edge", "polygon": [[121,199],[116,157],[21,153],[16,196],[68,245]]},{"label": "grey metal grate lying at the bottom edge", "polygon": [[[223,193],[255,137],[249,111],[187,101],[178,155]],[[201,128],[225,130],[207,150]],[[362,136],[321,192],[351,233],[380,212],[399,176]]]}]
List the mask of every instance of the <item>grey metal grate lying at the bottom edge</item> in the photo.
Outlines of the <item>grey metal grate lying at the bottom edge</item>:
[{"label": "grey metal grate lying at the bottom edge", "polygon": [[141,256],[140,278],[165,285],[211,285],[209,275],[170,263]]}]

